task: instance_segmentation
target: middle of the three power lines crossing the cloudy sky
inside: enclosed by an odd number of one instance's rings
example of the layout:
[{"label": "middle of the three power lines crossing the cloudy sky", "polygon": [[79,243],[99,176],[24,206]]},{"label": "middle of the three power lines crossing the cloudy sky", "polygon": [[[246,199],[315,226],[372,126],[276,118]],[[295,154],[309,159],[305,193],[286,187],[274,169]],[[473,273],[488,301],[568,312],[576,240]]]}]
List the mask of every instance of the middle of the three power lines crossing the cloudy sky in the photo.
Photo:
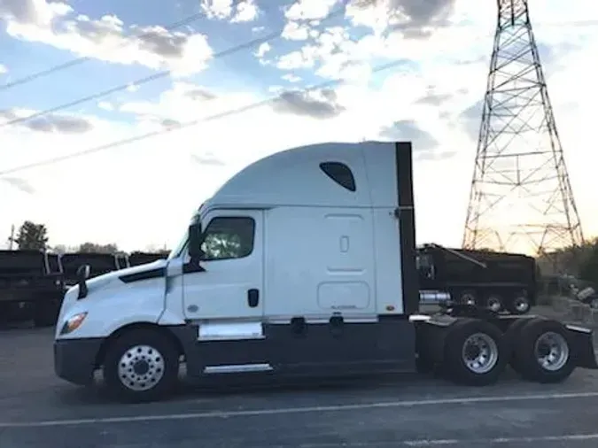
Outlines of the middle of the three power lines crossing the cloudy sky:
[{"label": "middle of the three power lines crossing the cloudy sky", "polygon": [[[330,14],[328,16],[326,16],[324,19],[322,19],[321,21],[323,22],[323,21],[330,20],[330,19],[338,16],[339,14],[343,13],[344,11],[345,11],[344,8],[342,8],[342,7],[338,8],[338,10],[335,10],[334,12],[330,12]],[[213,58],[214,59],[223,58],[225,56],[229,56],[230,54],[236,53],[239,50],[245,50],[245,49],[251,48],[257,44],[272,41],[272,40],[276,39],[277,37],[279,37],[280,35],[282,35],[283,31],[284,31],[284,27],[280,28],[276,32],[270,33],[263,37],[253,39],[252,41],[249,41],[249,42],[241,43],[241,44],[231,47],[227,50],[222,50],[222,51],[214,54]],[[12,125],[22,123],[24,121],[34,120],[36,118],[43,117],[43,115],[47,115],[47,114],[53,113],[53,112],[58,112],[63,109],[67,109],[69,107],[73,107],[74,105],[87,103],[89,101],[92,101],[94,99],[98,99],[101,97],[107,97],[108,95],[112,95],[113,93],[128,89],[131,86],[140,86],[140,85],[145,84],[150,81],[159,80],[160,78],[164,78],[164,77],[168,76],[170,73],[171,73],[171,70],[165,70],[163,72],[154,73],[154,74],[151,74],[144,78],[137,79],[136,81],[133,81],[133,82],[128,82],[126,84],[120,84],[119,86],[113,87],[112,89],[102,90],[100,92],[97,92],[93,95],[89,95],[87,97],[80,97],[80,98],[70,101],[68,103],[59,104],[57,106],[50,107],[49,109],[45,109],[40,112],[32,113],[31,115],[27,115],[26,117],[19,117],[19,118],[13,119],[13,120],[6,121],[5,123],[0,124],[0,127],[12,126]]]}]

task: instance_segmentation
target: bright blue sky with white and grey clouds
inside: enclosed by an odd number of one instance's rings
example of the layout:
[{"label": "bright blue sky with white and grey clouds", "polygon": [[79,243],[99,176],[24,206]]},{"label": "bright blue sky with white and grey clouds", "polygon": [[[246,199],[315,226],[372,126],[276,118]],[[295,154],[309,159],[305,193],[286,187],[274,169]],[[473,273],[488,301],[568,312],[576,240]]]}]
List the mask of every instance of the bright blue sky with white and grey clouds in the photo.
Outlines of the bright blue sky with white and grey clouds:
[{"label": "bright blue sky with white and grey clouds", "polygon": [[[414,143],[417,241],[460,246],[496,2],[347,1],[0,0],[0,245],[23,220],[50,244],[170,245],[259,158],[390,139]],[[597,236],[598,3],[530,9]]]}]

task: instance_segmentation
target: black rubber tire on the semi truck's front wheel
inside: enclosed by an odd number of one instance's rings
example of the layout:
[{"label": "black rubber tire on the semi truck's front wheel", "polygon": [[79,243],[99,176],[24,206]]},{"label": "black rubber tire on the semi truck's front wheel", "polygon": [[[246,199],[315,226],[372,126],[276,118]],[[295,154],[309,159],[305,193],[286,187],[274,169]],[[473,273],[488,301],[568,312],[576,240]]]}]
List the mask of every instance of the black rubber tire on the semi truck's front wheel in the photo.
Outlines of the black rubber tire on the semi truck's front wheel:
[{"label": "black rubber tire on the semi truck's front wheel", "polygon": [[[136,354],[129,353],[127,358],[130,360],[120,365],[120,359],[136,346],[146,347],[139,351],[138,359],[138,366],[146,363],[148,370],[145,375],[143,371],[133,371]],[[137,389],[121,381],[120,367],[127,368],[127,381],[131,385],[136,384]],[[107,348],[103,371],[105,385],[114,398],[135,403],[155,401],[167,398],[175,390],[179,374],[179,352],[172,339],[159,330],[133,329],[118,336]]]}]

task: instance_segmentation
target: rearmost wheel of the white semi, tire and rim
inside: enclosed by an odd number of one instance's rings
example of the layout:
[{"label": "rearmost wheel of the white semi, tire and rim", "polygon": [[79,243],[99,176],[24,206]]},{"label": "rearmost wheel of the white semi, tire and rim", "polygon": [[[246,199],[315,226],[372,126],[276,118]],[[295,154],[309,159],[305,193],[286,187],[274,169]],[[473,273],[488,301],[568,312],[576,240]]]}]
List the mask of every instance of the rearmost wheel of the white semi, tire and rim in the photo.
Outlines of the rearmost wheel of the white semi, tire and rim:
[{"label": "rearmost wheel of the white semi, tire and rim", "polygon": [[575,369],[569,331],[561,322],[533,319],[521,328],[517,370],[534,382],[562,382]]}]

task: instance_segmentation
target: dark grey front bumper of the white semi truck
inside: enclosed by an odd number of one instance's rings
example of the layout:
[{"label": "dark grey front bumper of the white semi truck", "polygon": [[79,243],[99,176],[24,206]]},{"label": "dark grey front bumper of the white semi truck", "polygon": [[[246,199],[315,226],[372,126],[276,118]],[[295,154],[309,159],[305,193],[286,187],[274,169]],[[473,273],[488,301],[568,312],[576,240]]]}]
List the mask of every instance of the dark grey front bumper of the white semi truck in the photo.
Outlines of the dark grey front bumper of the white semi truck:
[{"label": "dark grey front bumper of the white semi truck", "polygon": [[54,372],[58,377],[74,384],[93,382],[97,353],[102,338],[58,339],[54,341]]}]

